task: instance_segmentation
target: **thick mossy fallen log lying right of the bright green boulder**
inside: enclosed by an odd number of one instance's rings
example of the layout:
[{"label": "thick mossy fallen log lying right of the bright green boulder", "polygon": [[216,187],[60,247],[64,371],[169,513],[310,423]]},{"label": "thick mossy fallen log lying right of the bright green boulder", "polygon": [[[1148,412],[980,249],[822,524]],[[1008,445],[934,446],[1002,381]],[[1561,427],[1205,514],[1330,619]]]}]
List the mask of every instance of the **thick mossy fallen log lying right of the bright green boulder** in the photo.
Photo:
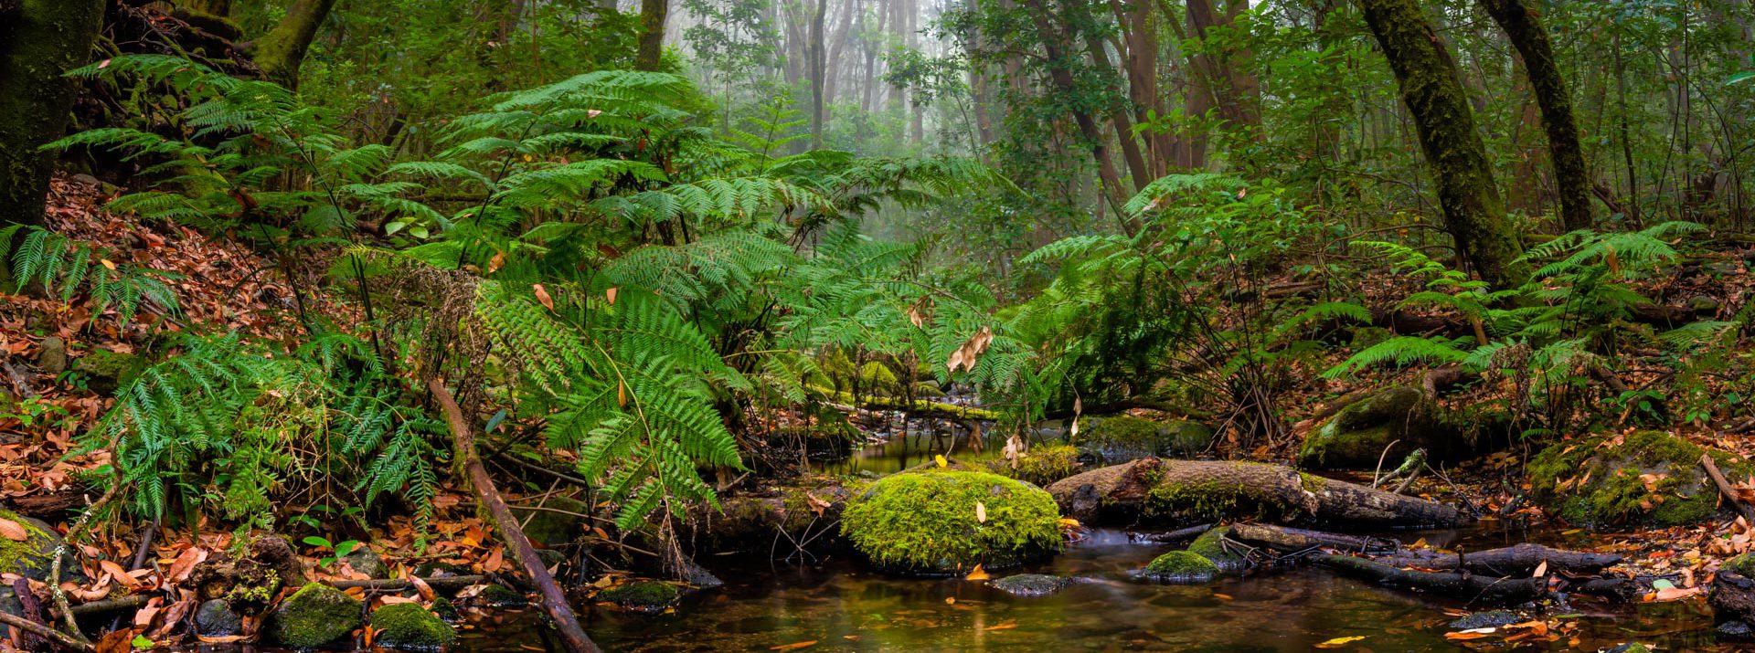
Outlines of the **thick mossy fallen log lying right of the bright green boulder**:
[{"label": "thick mossy fallen log lying right of the bright green boulder", "polygon": [[1141,458],[1048,486],[1064,514],[1085,523],[1264,520],[1332,528],[1450,527],[1455,507],[1285,465]]}]

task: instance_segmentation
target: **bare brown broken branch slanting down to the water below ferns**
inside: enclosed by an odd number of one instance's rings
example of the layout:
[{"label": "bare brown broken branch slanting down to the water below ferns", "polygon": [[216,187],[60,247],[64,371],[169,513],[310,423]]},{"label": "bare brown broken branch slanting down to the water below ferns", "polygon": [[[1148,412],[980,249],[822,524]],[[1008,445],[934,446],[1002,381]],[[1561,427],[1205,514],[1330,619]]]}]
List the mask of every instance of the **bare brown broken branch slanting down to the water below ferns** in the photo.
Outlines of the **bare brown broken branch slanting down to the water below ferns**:
[{"label": "bare brown broken branch slanting down to the water below ferns", "polygon": [[542,558],[537,558],[535,548],[530,546],[530,539],[525,537],[523,528],[518,527],[518,516],[512,509],[505,506],[500,499],[500,492],[493,488],[493,477],[488,476],[488,467],[481,463],[481,456],[476,453],[476,434],[470,427],[469,418],[463,416],[463,409],[456,405],[456,398],[451,397],[451,390],[444,386],[439,377],[426,379],[426,390],[432,391],[433,400],[439,402],[439,409],[444,411],[446,423],[451,427],[451,439],[456,446],[456,456],[463,462],[463,470],[469,472],[469,483],[476,490],[476,499],[483,507],[488,509],[488,516],[493,520],[493,527],[498,530],[500,539],[505,541],[514,553],[518,553],[518,562],[530,574],[530,583],[542,592],[542,611],[548,613],[549,620],[555,621],[555,630],[560,632],[562,642],[570,653],[598,653],[602,651],[591,642],[591,637],[584,634],[579,627],[579,618],[572,614],[572,607],[567,604],[567,595],[562,593],[560,585],[549,576],[548,567],[542,565]]}]

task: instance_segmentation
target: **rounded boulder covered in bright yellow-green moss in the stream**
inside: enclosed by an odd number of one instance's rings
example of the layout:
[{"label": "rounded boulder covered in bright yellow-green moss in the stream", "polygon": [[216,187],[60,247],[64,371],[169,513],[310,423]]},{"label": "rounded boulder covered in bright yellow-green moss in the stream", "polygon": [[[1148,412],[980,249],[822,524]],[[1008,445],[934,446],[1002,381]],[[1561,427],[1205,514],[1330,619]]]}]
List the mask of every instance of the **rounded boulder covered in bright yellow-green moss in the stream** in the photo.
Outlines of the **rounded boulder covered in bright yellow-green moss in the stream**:
[{"label": "rounded boulder covered in bright yellow-green moss in the stream", "polygon": [[878,569],[949,576],[1007,569],[1060,551],[1060,511],[1032,484],[988,472],[921,470],[872,483],[848,502],[841,534]]}]

